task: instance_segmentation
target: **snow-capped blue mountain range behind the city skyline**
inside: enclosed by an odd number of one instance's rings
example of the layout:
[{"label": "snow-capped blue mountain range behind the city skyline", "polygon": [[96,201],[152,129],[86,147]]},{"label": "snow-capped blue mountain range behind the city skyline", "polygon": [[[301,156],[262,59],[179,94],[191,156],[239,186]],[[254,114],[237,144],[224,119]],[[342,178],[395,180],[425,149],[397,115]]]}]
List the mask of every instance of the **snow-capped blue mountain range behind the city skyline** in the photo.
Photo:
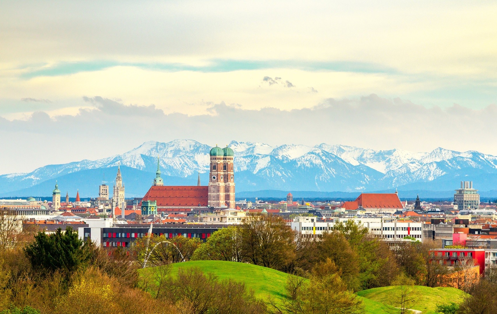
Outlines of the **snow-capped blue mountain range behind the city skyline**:
[{"label": "snow-capped blue mountain range behind the city skyline", "polygon": [[[229,147],[235,151],[237,191],[445,191],[457,188],[462,180],[474,181],[482,191],[497,189],[497,157],[476,151],[437,148],[413,153],[324,143],[270,146],[236,141]],[[112,185],[120,163],[126,196],[140,196],[155,177],[158,156],[166,184],[194,185],[198,172],[206,183],[210,148],[193,140],[149,141],[121,155],[0,175],[0,195],[50,195],[57,179],[63,191],[66,184],[68,189],[95,196],[103,176]]]}]

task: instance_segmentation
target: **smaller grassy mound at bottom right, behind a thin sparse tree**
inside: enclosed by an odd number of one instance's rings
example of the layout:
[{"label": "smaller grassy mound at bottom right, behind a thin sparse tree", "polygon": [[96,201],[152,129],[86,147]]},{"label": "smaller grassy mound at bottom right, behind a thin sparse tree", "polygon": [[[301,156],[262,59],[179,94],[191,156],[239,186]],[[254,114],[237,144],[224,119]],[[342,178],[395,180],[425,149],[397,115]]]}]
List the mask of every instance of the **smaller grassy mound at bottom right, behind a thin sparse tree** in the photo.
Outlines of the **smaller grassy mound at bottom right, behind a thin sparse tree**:
[{"label": "smaller grassy mound at bottom right, behind a thin sparse tree", "polygon": [[[388,304],[389,298],[398,295],[399,291],[399,286],[390,286],[359,291],[357,295],[376,302]],[[435,314],[435,308],[438,304],[449,302],[462,303],[467,294],[455,288],[414,286],[414,295],[416,296],[416,300],[412,306],[414,310],[419,310],[423,314]]]}]

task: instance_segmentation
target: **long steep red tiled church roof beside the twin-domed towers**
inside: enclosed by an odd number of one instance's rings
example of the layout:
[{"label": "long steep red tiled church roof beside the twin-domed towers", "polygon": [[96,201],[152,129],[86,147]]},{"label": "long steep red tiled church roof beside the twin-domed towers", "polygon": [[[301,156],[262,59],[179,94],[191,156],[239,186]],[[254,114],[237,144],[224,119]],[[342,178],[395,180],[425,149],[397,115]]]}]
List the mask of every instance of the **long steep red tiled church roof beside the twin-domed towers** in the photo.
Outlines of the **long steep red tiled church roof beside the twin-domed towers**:
[{"label": "long steep red tiled church roof beside the twin-domed towers", "polygon": [[143,200],[157,201],[157,207],[207,206],[208,192],[207,186],[151,186]]}]

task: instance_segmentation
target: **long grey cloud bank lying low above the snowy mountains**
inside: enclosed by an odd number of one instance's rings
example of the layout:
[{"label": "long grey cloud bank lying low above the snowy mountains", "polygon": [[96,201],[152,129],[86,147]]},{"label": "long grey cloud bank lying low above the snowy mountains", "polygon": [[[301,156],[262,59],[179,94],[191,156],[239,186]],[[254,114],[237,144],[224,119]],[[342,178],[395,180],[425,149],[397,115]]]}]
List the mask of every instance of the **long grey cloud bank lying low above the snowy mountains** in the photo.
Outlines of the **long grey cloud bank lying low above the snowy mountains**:
[{"label": "long grey cloud bank lying low above the snowy mountains", "polygon": [[[320,143],[373,149],[431,151],[437,147],[456,151],[476,150],[497,155],[488,143],[497,106],[481,110],[454,104],[425,108],[409,100],[375,94],[360,98],[329,98],[312,108],[247,110],[238,105],[213,103],[209,114],[166,114],[154,105],[125,105],[104,97],[86,97],[94,109],[77,115],[49,117],[36,112],[28,120],[0,118],[0,144],[16,152],[4,154],[0,173],[29,171],[37,166],[97,159],[120,154],[145,141],[194,139],[215,145],[231,140],[271,145]],[[468,121],[479,121],[471,128]],[[245,127],[244,127],[245,126]],[[471,135],[472,141],[461,141]],[[36,158],[29,152],[44,152]]]}]

